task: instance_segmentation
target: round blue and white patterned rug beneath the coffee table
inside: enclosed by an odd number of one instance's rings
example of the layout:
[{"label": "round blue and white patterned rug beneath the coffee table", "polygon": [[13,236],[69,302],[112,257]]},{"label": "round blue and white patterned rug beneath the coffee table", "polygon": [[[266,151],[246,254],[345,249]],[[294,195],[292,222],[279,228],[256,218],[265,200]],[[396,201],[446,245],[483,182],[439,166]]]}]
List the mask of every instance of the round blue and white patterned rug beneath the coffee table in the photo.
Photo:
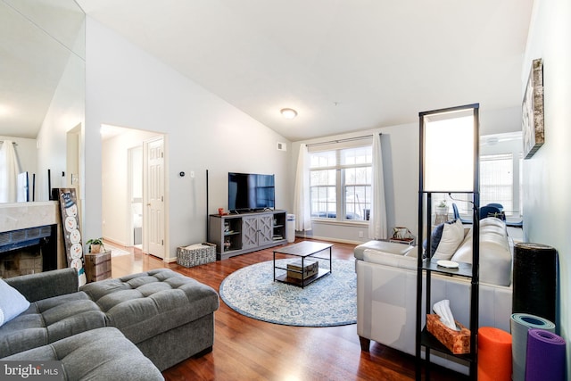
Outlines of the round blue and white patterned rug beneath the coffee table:
[{"label": "round blue and white patterned rug beneath the coffee table", "polygon": [[[296,259],[277,262],[285,267],[289,261]],[[321,267],[327,268],[327,264],[319,261]],[[332,327],[357,322],[354,261],[333,260],[331,274],[304,288],[275,282],[273,261],[265,261],[236,270],[222,281],[219,291],[233,310],[270,323]]]}]

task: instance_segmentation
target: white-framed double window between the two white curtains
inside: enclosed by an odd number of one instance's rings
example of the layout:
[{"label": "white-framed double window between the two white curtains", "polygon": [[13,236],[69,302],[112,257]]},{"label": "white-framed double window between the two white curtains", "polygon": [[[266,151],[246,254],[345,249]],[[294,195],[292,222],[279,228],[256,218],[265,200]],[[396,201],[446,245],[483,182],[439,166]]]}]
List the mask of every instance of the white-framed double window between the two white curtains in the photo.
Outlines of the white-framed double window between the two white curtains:
[{"label": "white-framed double window between the two white curtains", "polygon": [[310,152],[311,217],[367,220],[371,165],[371,145]]}]

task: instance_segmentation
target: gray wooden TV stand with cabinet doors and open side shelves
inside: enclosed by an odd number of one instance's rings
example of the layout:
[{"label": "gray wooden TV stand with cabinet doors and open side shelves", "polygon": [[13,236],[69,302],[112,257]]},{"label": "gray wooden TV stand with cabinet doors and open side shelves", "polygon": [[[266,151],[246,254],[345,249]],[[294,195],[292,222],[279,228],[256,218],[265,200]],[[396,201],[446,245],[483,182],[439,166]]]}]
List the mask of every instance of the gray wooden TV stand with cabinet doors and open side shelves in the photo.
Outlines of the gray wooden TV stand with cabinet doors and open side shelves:
[{"label": "gray wooden TV stand with cabinet doors and open side shelves", "polygon": [[216,244],[216,259],[285,244],[286,211],[252,211],[209,216],[208,242]]}]

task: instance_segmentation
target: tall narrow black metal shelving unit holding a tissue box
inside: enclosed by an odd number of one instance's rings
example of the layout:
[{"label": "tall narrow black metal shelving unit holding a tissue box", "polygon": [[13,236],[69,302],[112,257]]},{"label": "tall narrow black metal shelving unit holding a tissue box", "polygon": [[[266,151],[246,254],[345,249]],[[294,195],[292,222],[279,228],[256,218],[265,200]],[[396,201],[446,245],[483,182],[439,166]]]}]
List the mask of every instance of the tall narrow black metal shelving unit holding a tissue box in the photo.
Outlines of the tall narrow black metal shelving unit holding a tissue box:
[{"label": "tall narrow black metal shelving unit holding a tissue box", "polygon": [[[434,191],[426,191],[425,188],[425,117],[434,114],[444,114],[449,112],[462,112],[473,110],[474,116],[474,184],[470,190],[459,192],[458,190],[438,189]],[[480,204],[479,195],[479,133],[478,133],[478,109],[479,104],[468,104],[465,106],[452,107],[449,109],[434,110],[431,112],[419,112],[420,124],[420,154],[419,154],[419,186],[418,186],[418,243],[424,242],[424,232],[426,227],[426,253],[431,253],[430,231],[432,230],[432,195],[435,193],[466,193],[472,195],[473,205],[473,226],[472,226],[472,251],[473,258],[472,264],[459,263],[458,269],[448,269],[438,266],[436,261],[431,261],[430,258],[423,258],[422,250],[418,253],[418,267],[417,267],[417,327],[416,327],[416,378],[422,379],[423,363],[426,365],[426,380],[430,379],[430,353],[431,351],[442,352],[450,356],[457,357],[461,360],[468,362],[469,376],[471,379],[477,379],[477,329],[478,329],[478,288],[479,288],[479,216],[478,209]],[[453,147],[445,147],[453,151]],[[453,154],[451,154],[453,158]],[[453,159],[451,159],[453,160]],[[451,174],[454,176],[454,174]],[[426,225],[425,225],[426,223]],[[454,275],[459,277],[468,277],[471,279],[470,285],[470,352],[468,354],[454,354],[448,350],[442,343],[440,343],[434,335],[426,330],[426,326],[422,325],[422,318],[426,314],[431,313],[431,277],[432,273],[443,273],[447,275]],[[423,279],[423,275],[426,278]],[[423,309],[423,290],[425,294],[425,308]],[[425,360],[422,359],[422,349],[425,349]]]}]

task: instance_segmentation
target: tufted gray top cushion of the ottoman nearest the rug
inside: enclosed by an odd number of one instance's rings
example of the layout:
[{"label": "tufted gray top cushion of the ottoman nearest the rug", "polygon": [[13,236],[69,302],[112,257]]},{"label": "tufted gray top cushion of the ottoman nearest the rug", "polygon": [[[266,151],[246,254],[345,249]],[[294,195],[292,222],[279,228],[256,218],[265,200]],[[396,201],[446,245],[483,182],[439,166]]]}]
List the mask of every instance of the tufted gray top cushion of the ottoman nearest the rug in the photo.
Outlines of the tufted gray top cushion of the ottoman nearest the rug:
[{"label": "tufted gray top cushion of the ottoman nearest the rug", "polygon": [[218,310],[216,291],[170,269],[156,269],[80,287],[133,343]]}]

